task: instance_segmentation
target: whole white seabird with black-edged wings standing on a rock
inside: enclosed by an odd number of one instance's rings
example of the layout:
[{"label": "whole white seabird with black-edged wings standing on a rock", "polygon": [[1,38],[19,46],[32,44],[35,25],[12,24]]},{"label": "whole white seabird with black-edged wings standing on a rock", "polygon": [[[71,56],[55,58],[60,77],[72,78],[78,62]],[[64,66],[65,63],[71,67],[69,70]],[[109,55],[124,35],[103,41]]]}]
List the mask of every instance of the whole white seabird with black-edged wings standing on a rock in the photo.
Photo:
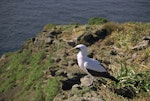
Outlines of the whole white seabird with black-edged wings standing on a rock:
[{"label": "whole white seabird with black-edged wings standing on a rock", "polygon": [[93,58],[87,57],[87,47],[83,44],[79,44],[71,50],[79,49],[77,54],[78,66],[89,76],[92,80],[93,76],[109,78],[115,82],[119,82],[115,77],[111,76],[107,70],[101,65],[101,63]]}]

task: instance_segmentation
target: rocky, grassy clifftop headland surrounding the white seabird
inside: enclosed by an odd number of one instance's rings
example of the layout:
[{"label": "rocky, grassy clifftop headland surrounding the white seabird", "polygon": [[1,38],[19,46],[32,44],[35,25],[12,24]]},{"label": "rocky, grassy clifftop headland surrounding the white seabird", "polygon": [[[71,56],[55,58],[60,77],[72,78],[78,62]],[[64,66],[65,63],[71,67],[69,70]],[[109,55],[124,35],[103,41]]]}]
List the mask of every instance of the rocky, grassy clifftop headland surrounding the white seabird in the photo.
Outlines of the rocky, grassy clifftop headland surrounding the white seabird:
[{"label": "rocky, grassy clifftop headland surrounding the white seabird", "polygon": [[[150,24],[46,25],[22,49],[0,59],[0,100],[149,100]],[[101,61],[115,84],[96,78],[87,87],[76,62],[75,45]]]}]

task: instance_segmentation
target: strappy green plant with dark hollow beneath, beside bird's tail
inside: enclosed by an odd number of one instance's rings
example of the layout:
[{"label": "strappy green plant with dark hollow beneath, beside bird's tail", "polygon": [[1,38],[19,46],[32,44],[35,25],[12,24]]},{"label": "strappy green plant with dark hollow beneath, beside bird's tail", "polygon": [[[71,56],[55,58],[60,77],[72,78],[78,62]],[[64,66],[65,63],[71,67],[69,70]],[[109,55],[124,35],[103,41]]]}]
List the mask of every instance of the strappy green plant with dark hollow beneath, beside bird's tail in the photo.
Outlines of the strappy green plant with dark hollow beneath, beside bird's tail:
[{"label": "strappy green plant with dark hollow beneath, beside bird's tail", "polygon": [[117,74],[117,79],[120,82],[116,84],[115,91],[119,95],[132,98],[140,92],[150,91],[149,71],[136,73],[130,67],[121,64],[121,70]]}]

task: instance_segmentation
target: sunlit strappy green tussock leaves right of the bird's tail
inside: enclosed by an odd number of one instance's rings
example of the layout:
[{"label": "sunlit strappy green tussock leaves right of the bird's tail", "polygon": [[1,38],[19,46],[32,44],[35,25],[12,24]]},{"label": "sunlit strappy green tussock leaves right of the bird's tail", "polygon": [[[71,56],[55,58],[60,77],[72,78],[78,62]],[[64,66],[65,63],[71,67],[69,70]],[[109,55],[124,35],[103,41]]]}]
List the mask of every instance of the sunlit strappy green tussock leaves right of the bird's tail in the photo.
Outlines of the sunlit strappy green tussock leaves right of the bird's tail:
[{"label": "sunlit strappy green tussock leaves right of the bird's tail", "polygon": [[132,87],[136,93],[150,91],[149,71],[136,73],[131,67],[126,67],[124,64],[121,64],[117,78],[120,80],[120,83],[117,84],[117,88]]}]

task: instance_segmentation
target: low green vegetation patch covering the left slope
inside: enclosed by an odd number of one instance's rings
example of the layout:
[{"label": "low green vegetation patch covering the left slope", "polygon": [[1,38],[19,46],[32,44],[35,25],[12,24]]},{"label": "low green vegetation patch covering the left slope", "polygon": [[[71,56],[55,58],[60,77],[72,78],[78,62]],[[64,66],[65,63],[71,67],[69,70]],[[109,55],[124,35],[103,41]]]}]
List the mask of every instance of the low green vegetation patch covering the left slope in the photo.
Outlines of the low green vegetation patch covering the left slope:
[{"label": "low green vegetation patch covering the left slope", "polygon": [[[22,89],[18,91],[17,96],[24,95],[22,100],[28,98],[34,92],[36,92],[33,95],[35,101],[41,101],[45,98],[52,99],[54,97],[59,89],[59,83],[52,79],[48,80],[45,86],[43,84],[44,70],[52,64],[50,57],[46,59],[43,50],[31,53],[30,50],[25,49],[21,53],[13,53],[9,58],[11,61],[6,64],[5,68],[0,68],[2,73],[0,78],[3,78],[0,80],[0,93],[21,86]],[[47,90],[45,91],[43,87]],[[48,98],[46,97],[47,95]]]}]

